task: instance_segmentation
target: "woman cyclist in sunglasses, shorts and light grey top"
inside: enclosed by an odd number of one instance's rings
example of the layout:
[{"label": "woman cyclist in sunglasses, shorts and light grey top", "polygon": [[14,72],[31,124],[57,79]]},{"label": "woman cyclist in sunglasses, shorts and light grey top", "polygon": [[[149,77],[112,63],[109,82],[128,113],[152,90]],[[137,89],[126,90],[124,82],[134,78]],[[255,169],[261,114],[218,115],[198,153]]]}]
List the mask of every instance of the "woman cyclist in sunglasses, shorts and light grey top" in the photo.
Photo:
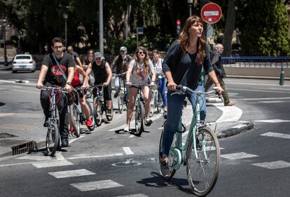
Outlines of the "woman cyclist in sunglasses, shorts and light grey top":
[{"label": "woman cyclist in sunglasses, shorts and light grey top", "polygon": [[[149,72],[151,72],[152,79],[150,81]],[[132,76],[131,76],[132,74]],[[131,79],[131,80],[130,80]],[[133,108],[135,100],[138,93],[138,88],[134,87],[134,83],[146,84],[150,83],[149,86],[154,86],[154,81],[156,79],[156,73],[154,66],[149,59],[148,50],[143,46],[139,46],[135,52],[134,60],[129,64],[126,74],[126,84],[130,87],[129,90],[129,106],[127,110],[127,121],[124,131],[129,131],[130,122],[133,114]],[[142,88],[144,102],[145,102],[145,116],[146,125],[151,125],[153,122],[150,118],[150,89],[148,86]]]}]

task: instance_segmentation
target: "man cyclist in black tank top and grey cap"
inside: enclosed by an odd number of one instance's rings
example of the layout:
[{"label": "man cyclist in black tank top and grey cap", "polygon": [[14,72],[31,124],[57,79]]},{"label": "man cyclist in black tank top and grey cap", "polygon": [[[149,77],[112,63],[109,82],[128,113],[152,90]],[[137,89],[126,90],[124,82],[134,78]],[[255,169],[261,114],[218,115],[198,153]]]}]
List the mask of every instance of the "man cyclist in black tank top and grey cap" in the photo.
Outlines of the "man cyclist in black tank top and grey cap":
[{"label": "man cyclist in black tank top and grey cap", "polygon": [[[104,100],[106,101],[106,114],[110,116],[111,109],[113,107],[112,97],[111,97],[111,79],[112,79],[112,71],[111,67],[106,60],[102,60],[102,54],[97,52],[95,53],[95,61],[91,62],[88,65],[87,74],[92,72],[95,77],[95,86],[103,83],[104,86]],[[93,92],[94,97],[95,92]]]}]

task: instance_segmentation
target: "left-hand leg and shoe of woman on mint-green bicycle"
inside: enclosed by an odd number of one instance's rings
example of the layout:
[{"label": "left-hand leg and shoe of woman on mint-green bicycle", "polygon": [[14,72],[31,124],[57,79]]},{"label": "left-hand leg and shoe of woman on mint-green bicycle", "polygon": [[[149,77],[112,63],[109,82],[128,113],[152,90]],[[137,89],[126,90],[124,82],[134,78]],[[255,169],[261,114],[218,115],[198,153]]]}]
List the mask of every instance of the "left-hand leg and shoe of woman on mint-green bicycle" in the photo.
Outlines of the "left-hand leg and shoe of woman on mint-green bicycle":
[{"label": "left-hand leg and shoe of woman on mint-green bicycle", "polygon": [[163,133],[163,146],[162,146],[162,163],[160,166],[160,170],[162,171],[163,175],[168,175],[170,173],[168,167],[168,155],[170,152],[170,147],[172,145],[175,131],[179,126],[180,117],[182,114],[182,104],[185,99],[185,95],[170,95],[174,93],[172,90],[167,91],[167,104],[168,104],[168,111],[167,111],[167,121],[164,125],[164,133]]}]

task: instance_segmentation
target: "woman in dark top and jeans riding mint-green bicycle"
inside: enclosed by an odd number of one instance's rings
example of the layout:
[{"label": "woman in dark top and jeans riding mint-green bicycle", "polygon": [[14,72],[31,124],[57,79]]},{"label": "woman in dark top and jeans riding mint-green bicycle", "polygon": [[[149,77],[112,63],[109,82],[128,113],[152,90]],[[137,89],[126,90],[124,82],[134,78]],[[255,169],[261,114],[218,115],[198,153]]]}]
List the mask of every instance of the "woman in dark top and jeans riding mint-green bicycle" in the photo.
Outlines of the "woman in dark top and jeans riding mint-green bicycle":
[{"label": "woman in dark top and jeans riding mint-green bicycle", "polygon": [[[188,86],[195,91],[205,91],[200,80],[202,67],[209,77],[214,81],[218,88],[218,93],[223,93],[221,85],[216,79],[216,74],[210,62],[209,46],[206,45],[203,31],[202,20],[193,15],[186,20],[184,29],[179,39],[174,41],[167,51],[163,60],[163,72],[167,78],[167,122],[163,133],[163,158],[160,166],[160,172],[163,176],[170,174],[168,167],[168,155],[172,144],[174,133],[178,128],[182,104],[185,97],[190,100],[193,109],[195,109],[196,95],[178,95],[172,93],[176,90],[177,85]],[[205,95],[200,100],[200,120],[205,120],[206,105]]]}]

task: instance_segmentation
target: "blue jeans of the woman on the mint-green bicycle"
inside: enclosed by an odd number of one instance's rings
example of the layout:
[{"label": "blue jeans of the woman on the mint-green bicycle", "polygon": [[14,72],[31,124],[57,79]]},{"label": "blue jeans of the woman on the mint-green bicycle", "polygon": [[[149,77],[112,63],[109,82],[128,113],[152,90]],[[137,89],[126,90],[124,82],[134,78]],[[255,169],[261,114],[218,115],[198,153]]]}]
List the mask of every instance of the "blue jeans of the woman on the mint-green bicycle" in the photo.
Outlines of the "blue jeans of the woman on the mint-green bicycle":
[{"label": "blue jeans of the woman on the mint-green bicycle", "polygon": [[[200,83],[198,84],[198,88],[195,89],[195,91],[202,91],[205,92],[204,86]],[[188,100],[191,102],[191,105],[193,107],[193,111],[195,109],[195,100],[196,95],[170,95],[174,93],[172,90],[167,91],[167,121],[164,125],[164,133],[163,133],[163,157],[167,157],[170,152],[170,147],[173,142],[174,134],[179,126],[179,121],[182,113],[182,104],[186,97],[188,97]],[[206,103],[205,103],[205,95],[202,94],[199,100],[200,103],[200,120],[205,121],[206,116]],[[184,114],[185,116],[186,114]]]}]

